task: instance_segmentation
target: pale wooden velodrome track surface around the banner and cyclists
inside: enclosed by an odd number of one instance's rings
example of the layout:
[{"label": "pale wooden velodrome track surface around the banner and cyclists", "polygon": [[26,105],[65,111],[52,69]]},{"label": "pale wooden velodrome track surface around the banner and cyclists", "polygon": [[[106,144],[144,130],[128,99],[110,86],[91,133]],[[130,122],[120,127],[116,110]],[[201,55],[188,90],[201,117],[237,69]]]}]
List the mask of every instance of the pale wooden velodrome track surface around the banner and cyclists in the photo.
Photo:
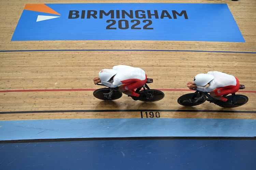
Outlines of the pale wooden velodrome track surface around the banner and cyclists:
[{"label": "pale wooden velodrome track surface around the banner and cyclists", "polygon": [[[0,2],[1,121],[141,118],[144,111],[152,110],[159,111],[161,118],[256,119],[255,0],[161,1],[161,3],[227,3],[246,43],[11,41],[25,4],[33,3],[39,2],[34,0]],[[95,3],[95,1],[45,0],[42,3]],[[124,2],[99,0],[97,3]],[[129,0],[126,3],[159,2]],[[150,87],[162,90],[165,98],[155,103],[133,101],[125,95],[118,100],[108,102],[94,98],[93,91],[101,87],[94,85],[92,79],[98,75],[99,70],[120,64],[144,69],[147,77],[154,79],[154,83],[149,84]],[[209,102],[195,107],[179,105],[177,99],[189,92],[185,91],[186,82],[192,81],[197,73],[208,71],[222,71],[236,76],[240,84],[246,86],[237,94],[246,95],[249,101],[241,107],[227,109]]]}]

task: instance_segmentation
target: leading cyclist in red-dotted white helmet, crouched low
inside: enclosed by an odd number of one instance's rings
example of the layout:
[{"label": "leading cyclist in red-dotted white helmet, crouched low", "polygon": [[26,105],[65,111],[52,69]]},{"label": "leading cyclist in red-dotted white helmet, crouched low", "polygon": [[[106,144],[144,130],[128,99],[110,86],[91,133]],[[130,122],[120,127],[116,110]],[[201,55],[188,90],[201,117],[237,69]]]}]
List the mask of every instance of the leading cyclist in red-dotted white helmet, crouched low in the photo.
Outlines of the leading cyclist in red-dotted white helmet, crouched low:
[{"label": "leading cyclist in red-dotted white helmet, crouched low", "polygon": [[147,76],[141,68],[131,66],[118,65],[113,69],[103,69],[99,72],[99,77],[93,79],[94,84],[102,83],[108,87],[118,87],[118,90],[128,96],[132,96],[134,100],[139,99],[134,89],[142,87],[146,81]]}]

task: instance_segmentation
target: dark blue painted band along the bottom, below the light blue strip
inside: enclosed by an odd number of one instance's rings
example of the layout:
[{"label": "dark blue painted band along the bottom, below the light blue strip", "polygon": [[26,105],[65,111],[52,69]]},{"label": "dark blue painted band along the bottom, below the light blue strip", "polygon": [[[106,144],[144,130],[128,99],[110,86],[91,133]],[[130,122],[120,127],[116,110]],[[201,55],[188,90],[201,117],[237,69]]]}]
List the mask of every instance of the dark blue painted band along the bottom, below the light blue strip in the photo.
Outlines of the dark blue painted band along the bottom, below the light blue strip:
[{"label": "dark blue painted band along the bottom, below the light blue strip", "polygon": [[0,144],[0,169],[254,170],[256,140],[93,140]]}]

